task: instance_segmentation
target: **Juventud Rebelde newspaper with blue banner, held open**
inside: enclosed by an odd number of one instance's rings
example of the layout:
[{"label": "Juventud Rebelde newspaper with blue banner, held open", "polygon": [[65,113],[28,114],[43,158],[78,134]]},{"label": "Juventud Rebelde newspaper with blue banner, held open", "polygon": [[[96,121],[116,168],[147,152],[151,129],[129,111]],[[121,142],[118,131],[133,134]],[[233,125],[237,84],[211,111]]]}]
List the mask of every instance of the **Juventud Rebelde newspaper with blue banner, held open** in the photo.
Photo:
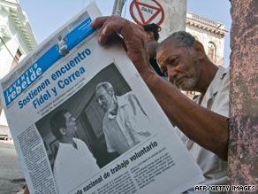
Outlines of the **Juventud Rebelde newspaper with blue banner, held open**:
[{"label": "Juventud Rebelde newspaper with blue banner, held open", "polygon": [[203,180],[200,168],[121,45],[97,43],[90,22],[100,15],[89,4],[1,80],[30,192],[174,194],[192,188]]}]

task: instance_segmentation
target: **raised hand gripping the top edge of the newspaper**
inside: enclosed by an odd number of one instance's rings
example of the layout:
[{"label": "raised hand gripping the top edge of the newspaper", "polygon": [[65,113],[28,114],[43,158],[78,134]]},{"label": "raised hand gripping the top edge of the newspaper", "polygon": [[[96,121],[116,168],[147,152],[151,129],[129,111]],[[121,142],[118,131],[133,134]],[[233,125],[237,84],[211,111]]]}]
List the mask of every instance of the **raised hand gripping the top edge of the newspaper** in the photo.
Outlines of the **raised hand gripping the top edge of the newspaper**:
[{"label": "raised hand gripping the top edge of the newspaper", "polygon": [[100,17],[91,23],[92,27],[100,28],[99,43],[104,45],[118,41],[125,46],[128,57],[142,75],[151,71],[148,62],[146,33],[143,28],[129,20],[118,16]]}]

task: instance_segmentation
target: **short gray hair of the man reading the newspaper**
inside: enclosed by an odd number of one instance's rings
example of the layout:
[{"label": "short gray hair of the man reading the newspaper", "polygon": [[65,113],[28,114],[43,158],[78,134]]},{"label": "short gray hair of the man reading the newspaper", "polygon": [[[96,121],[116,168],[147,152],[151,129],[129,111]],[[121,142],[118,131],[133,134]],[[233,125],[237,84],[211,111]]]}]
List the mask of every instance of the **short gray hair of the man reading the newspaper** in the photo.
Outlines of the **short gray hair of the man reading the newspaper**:
[{"label": "short gray hair of the man reading the newspaper", "polygon": [[160,43],[159,47],[169,40],[175,41],[176,43],[180,44],[181,46],[187,47],[188,49],[192,48],[195,42],[195,38],[193,35],[187,33],[186,31],[178,31],[164,39],[163,42]]}]

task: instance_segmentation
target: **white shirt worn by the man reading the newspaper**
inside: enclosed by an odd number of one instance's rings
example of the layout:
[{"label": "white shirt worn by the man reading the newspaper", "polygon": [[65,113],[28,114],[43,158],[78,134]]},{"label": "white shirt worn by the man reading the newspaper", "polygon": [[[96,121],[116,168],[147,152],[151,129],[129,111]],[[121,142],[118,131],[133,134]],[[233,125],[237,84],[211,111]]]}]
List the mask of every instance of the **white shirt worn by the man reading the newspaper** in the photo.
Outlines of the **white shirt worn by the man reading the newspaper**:
[{"label": "white shirt worn by the man reading the newspaper", "polygon": [[[230,75],[229,68],[224,69],[219,67],[216,76],[211,81],[204,97],[201,101],[201,106],[229,117],[229,89],[230,89]],[[200,97],[196,101],[200,105]],[[186,144],[195,161],[201,167],[205,181],[201,184],[228,184],[227,182],[227,162],[219,159],[215,153],[202,148],[199,144],[194,143],[181,131],[178,134]],[[188,190],[187,193],[196,193],[193,190]],[[212,192],[198,192],[198,193],[212,193]],[[217,192],[216,192],[217,193]]]}]

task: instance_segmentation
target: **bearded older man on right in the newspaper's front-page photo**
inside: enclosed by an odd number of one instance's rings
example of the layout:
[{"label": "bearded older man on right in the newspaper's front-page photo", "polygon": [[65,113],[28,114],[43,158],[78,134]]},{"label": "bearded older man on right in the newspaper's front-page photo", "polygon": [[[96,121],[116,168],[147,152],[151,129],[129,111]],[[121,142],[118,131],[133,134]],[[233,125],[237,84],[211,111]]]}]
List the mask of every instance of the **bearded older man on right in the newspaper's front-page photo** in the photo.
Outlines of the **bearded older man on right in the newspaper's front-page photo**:
[{"label": "bearded older man on right in the newspaper's front-page photo", "polygon": [[148,116],[132,93],[117,97],[107,81],[99,83],[95,92],[105,112],[102,128],[109,152],[123,154],[150,136]]}]

